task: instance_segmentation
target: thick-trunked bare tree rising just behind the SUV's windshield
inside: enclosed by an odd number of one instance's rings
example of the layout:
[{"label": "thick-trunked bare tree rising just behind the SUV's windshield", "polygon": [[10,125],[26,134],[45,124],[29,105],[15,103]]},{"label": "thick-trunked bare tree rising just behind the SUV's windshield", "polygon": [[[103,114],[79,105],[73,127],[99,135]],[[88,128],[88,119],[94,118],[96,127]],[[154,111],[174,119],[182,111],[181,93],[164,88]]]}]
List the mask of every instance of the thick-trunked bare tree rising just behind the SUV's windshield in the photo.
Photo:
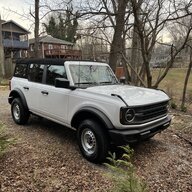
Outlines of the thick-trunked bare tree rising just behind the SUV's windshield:
[{"label": "thick-trunked bare tree rising just behind the SUV's windshield", "polygon": [[[80,15],[95,24],[95,28],[103,30],[107,40],[106,29],[112,31],[111,48],[109,54],[109,64],[113,71],[116,69],[118,61],[121,60],[121,52],[124,52],[125,31],[130,16],[128,8],[129,0],[96,0],[86,1],[86,5],[81,5]],[[110,32],[109,32],[110,33]]]}]

